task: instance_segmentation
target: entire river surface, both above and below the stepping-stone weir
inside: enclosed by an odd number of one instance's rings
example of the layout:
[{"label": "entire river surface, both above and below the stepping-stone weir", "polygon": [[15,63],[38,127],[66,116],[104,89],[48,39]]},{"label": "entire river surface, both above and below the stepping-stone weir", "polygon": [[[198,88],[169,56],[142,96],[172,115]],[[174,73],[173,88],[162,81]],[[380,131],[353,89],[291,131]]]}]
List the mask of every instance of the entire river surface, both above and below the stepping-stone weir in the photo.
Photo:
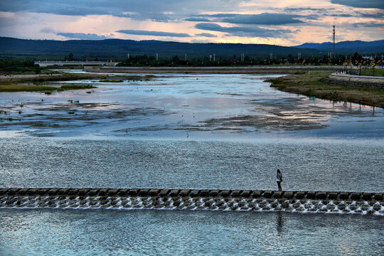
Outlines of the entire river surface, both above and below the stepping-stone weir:
[{"label": "entire river surface, both above and below the stepping-stone weir", "polygon": [[[262,80],[1,93],[0,187],[274,190],[279,168],[284,190],[384,191],[382,109]],[[383,230],[367,215],[1,209],[0,255],[380,255]]]}]

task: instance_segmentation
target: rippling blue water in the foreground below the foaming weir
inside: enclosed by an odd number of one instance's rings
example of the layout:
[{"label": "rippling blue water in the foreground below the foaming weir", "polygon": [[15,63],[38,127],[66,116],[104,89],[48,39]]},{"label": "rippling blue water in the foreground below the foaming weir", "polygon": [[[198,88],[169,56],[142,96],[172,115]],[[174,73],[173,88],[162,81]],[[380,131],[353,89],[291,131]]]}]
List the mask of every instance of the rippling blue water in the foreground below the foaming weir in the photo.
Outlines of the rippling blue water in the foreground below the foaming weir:
[{"label": "rippling blue water in the foreground below the foaming weir", "polygon": [[382,255],[382,217],[1,210],[5,255]]}]

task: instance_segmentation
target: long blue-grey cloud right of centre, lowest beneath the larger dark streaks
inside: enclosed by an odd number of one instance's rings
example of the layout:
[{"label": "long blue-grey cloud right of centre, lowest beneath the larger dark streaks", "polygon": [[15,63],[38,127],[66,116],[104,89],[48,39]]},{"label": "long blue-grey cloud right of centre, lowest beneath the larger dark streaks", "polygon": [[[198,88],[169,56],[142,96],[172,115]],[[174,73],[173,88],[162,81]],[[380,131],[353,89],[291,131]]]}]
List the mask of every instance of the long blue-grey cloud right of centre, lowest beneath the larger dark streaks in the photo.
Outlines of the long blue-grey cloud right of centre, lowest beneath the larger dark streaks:
[{"label": "long blue-grey cloud right of centre, lowest beneath the larger dark streaks", "polygon": [[262,38],[277,38],[280,36],[288,37],[293,31],[289,29],[267,29],[257,26],[233,26],[223,27],[216,23],[198,23],[195,28],[206,31],[218,31],[228,33],[231,36],[241,37],[262,37]]}]

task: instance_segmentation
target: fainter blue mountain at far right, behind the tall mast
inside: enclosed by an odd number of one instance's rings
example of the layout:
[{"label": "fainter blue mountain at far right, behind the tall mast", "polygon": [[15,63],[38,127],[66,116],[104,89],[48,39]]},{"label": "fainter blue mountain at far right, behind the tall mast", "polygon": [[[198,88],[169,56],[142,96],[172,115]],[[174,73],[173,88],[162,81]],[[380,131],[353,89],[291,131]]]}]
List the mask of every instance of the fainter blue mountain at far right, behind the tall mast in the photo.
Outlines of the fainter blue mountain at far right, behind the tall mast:
[{"label": "fainter blue mountain at far right, behind the tall mast", "polygon": [[[316,49],[321,51],[332,51],[333,43],[303,43],[300,46],[294,46],[296,48],[307,48],[307,49]],[[384,40],[378,41],[343,41],[335,43],[335,52],[336,53],[384,53]]]}]

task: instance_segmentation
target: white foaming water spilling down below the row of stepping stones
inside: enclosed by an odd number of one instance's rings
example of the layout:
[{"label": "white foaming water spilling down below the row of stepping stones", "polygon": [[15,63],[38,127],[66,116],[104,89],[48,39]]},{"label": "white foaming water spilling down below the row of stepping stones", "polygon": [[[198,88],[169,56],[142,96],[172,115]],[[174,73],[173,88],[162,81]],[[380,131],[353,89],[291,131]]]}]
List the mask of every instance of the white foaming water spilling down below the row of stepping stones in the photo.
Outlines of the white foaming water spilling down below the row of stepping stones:
[{"label": "white foaming water spilling down below the row of stepping stones", "polygon": [[294,213],[373,214],[384,216],[383,202],[375,202],[371,205],[369,201],[323,201],[311,199],[303,201],[265,198],[2,196],[0,197],[0,208],[286,211]]}]

